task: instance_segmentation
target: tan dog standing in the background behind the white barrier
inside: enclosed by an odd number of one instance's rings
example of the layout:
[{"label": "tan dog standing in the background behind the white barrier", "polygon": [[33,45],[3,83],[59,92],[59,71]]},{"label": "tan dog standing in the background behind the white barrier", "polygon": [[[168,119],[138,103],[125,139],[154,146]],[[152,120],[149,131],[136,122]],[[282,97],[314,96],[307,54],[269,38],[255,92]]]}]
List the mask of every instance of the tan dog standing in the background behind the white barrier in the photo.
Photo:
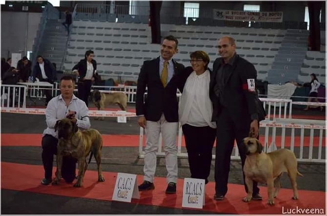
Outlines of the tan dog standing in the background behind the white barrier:
[{"label": "tan dog standing in the background behind the white barrier", "polygon": [[[95,89],[93,90],[93,104],[98,110],[104,110],[106,105],[118,104],[123,111],[126,111],[127,95],[124,92],[102,93]],[[101,120],[104,120],[104,117]]]}]

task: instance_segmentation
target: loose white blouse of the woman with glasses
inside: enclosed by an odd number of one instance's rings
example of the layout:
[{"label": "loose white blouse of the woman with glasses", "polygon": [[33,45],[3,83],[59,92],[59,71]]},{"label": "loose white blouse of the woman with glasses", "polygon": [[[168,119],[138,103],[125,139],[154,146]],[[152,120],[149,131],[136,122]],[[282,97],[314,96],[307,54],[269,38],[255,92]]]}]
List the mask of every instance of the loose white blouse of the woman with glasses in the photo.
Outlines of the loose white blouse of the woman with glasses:
[{"label": "loose white blouse of the woman with glasses", "polygon": [[179,103],[181,125],[216,128],[216,123],[211,121],[213,108],[209,97],[209,83],[208,70],[201,75],[193,71],[188,76]]}]

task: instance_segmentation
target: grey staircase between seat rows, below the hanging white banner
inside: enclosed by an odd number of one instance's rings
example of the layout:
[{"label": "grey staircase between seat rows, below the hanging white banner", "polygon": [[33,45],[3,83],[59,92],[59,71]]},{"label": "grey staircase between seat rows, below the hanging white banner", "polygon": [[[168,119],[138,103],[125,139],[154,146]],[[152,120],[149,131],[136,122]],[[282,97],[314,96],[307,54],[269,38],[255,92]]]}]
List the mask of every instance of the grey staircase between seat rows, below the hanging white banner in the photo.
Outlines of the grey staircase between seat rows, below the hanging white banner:
[{"label": "grey staircase between seat rows, below the hanging white banner", "polygon": [[288,81],[298,81],[301,65],[307,53],[308,36],[307,30],[287,29],[281,47],[268,71],[268,83],[283,85]]}]

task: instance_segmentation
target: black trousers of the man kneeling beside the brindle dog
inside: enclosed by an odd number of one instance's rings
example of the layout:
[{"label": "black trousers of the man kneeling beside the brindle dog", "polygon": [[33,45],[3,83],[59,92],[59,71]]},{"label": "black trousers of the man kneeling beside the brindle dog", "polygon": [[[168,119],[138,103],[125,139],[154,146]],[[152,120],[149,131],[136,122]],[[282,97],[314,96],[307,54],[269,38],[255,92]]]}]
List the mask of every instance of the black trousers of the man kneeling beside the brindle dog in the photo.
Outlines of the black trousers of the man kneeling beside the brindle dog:
[{"label": "black trousers of the man kneeling beside the brindle dog", "polygon": [[[42,137],[44,177],[48,179],[52,179],[53,155],[57,155],[57,144],[58,139],[49,134]],[[77,160],[72,157],[64,156],[62,158],[61,176],[67,183],[72,183],[75,179],[76,162]]]}]

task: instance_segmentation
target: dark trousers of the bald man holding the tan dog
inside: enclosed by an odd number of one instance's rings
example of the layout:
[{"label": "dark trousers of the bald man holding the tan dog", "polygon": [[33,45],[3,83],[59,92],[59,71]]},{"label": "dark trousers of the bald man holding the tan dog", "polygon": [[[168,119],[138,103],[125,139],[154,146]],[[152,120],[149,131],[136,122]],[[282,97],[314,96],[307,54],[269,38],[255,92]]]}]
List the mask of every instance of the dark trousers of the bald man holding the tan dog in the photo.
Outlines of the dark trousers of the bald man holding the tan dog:
[{"label": "dark trousers of the bald man holding the tan dog", "polygon": [[[250,118],[243,119],[242,123],[240,124],[235,124],[231,119],[228,109],[226,108],[222,109],[222,112],[218,117],[216,159],[215,159],[215,182],[216,182],[215,189],[217,195],[225,195],[227,193],[230,156],[234,148],[235,139],[241,156],[242,172],[243,172],[246,152],[242,140],[248,136],[250,131],[250,124],[251,124]],[[243,172],[243,181],[245,186],[245,192],[247,193],[244,172]],[[259,193],[258,183],[253,181],[253,195],[258,193]]]}]

